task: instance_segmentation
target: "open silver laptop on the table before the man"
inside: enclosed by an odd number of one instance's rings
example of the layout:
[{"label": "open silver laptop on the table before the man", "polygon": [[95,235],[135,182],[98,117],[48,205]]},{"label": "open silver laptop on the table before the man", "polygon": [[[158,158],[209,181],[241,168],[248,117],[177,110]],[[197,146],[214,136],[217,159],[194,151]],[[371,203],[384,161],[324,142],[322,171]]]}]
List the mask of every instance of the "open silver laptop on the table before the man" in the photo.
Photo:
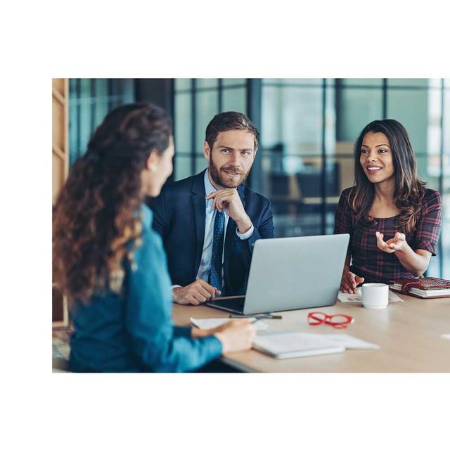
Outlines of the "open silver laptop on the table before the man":
[{"label": "open silver laptop on the table before the man", "polygon": [[246,295],[205,305],[248,315],[335,304],[348,245],[349,234],[259,239]]}]

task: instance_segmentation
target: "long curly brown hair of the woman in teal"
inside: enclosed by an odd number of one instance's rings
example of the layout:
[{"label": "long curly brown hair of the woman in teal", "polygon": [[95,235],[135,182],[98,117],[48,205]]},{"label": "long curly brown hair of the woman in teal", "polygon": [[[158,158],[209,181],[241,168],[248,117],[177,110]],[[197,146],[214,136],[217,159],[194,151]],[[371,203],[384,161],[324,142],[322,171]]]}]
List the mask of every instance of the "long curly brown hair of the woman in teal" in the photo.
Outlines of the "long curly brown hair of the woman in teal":
[{"label": "long curly brown hair of the woman in teal", "polygon": [[124,258],[131,261],[141,236],[141,172],[171,136],[172,121],[158,106],[123,105],[73,165],[53,208],[53,278],[70,304],[121,293]]}]

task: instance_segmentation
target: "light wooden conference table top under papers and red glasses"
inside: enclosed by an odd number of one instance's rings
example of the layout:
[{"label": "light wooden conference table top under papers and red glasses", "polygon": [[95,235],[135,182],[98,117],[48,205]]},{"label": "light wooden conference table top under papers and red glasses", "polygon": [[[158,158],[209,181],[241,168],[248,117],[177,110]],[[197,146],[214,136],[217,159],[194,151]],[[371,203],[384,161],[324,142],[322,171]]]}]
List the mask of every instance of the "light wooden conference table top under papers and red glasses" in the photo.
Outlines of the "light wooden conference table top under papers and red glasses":
[{"label": "light wooden conference table top under papers and red glasses", "polygon": [[[267,331],[347,333],[378,344],[378,350],[347,349],[344,353],[277,360],[255,350],[222,356],[221,361],[245,372],[450,372],[450,297],[422,300],[398,294],[404,302],[385,309],[366,309],[359,303],[336,302],[332,307],[279,313],[283,319],[264,319]],[[309,326],[307,314],[348,314],[355,321],[344,330],[328,325]],[[204,306],[174,304],[174,322],[186,326],[190,317],[228,317],[229,313]]]}]

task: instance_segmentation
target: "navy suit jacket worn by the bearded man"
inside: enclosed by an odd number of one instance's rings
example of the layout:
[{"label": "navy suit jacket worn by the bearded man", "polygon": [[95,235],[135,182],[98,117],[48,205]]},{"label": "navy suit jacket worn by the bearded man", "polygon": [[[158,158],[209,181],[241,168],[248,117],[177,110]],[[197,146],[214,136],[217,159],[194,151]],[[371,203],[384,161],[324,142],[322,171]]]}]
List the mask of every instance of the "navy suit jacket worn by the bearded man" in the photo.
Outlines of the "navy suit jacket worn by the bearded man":
[{"label": "navy suit jacket worn by the bearded man", "polygon": [[[198,273],[205,240],[205,171],[176,181],[150,202],[153,229],[162,236],[172,283],[186,286]],[[250,238],[236,235],[236,222],[229,217],[224,248],[222,295],[244,295],[255,240],[274,237],[271,205],[267,198],[244,185],[238,187],[245,212],[254,226]]]}]

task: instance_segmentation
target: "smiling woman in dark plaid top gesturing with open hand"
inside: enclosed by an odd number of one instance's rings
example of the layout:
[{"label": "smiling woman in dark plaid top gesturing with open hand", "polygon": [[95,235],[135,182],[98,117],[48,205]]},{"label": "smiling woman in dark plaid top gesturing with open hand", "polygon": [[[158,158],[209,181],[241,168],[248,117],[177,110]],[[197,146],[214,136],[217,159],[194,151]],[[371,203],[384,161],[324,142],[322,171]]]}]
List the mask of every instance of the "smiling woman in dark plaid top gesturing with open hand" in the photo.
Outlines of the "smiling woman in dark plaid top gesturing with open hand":
[{"label": "smiling woman in dark plaid top gesturing with open hand", "polygon": [[[439,192],[426,189],[406,129],[396,120],[368,124],[354,148],[355,186],[342,192],[334,233],[349,233],[341,290],[414,278],[436,255],[442,224]],[[352,265],[349,265],[352,257]]]}]

